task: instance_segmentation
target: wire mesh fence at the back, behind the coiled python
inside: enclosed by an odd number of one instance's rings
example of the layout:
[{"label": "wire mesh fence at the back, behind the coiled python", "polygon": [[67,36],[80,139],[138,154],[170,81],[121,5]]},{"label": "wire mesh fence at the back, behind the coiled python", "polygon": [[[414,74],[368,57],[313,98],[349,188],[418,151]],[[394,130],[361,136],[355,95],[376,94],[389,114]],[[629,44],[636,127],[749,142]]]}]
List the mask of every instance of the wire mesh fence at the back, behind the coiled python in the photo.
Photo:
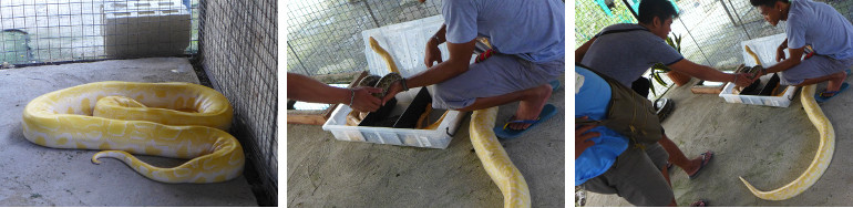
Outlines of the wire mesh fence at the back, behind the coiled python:
[{"label": "wire mesh fence at the back, behind the coiled python", "polygon": [[2,0],[0,62],[195,54],[198,0]]}]

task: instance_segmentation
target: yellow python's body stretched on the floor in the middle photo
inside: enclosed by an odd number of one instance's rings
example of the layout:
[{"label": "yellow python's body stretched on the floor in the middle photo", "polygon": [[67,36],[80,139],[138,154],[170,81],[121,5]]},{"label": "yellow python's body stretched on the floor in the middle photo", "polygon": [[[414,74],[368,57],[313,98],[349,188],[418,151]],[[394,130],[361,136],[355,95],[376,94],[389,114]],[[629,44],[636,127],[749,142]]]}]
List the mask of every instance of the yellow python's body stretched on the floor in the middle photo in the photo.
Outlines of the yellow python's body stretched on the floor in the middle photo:
[{"label": "yellow python's body stretched on the floor in the middle photo", "polygon": [[504,207],[531,207],[531,190],[527,188],[527,181],[510,160],[510,156],[494,134],[496,117],[497,107],[477,110],[471,114],[471,144],[480,162],[483,163],[483,168],[501,189]]}]

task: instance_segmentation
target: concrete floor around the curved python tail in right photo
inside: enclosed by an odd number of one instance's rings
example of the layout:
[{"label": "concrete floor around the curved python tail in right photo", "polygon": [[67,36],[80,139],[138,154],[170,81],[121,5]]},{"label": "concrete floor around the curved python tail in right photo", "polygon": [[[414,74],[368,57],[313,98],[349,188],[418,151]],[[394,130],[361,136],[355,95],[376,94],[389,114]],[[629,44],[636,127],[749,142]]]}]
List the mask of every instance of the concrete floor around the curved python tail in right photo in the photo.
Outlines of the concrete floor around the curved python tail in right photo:
[{"label": "concrete floor around the curved python tail in right photo", "polygon": [[[693,79],[696,82],[696,79]],[[850,82],[850,81],[847,81]],[[692,83],[691,83],[692,84]],[[819,135],[800,103],[800,93],[787,108],[726,103],[716,94],[692,94],[674,87],[665,97],[676,101],[662,123],[667,135],[689,157],[705,150],[715,156],[696,179],[678,167],[670,174],[676,200],[687,206],[698,199],[710,206],[813,207],[850,206],[853,198],[853,160],[844,157],[853,147],[853,117],[845,113],[853,94],[841,94],[821,107],[835,128],[835,154],[823,176],[811,188],[788,200],[768,201],[753,196],[738,179],[742,176],[761,190],[779,188],[795,179],[811,164]],[[818,91],[825,83],[818,85]],[[616,195],[587,194],[588,207],[631,206]]]}]

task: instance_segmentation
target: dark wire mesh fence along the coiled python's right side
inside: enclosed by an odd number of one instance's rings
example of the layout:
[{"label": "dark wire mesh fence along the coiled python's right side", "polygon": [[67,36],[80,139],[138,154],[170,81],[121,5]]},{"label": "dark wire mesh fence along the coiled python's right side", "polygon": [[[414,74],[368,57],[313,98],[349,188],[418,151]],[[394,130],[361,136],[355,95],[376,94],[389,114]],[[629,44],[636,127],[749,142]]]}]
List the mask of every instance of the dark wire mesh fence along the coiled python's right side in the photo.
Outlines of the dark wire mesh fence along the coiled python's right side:
[{"label": "dark wire mesh fence along the coiled python's right side", "polygon": [[201,64],[232,102],[230,133],[246,152],[246,177],[258,204],[277,206],[277,1],[202,0],[201,6]]}]

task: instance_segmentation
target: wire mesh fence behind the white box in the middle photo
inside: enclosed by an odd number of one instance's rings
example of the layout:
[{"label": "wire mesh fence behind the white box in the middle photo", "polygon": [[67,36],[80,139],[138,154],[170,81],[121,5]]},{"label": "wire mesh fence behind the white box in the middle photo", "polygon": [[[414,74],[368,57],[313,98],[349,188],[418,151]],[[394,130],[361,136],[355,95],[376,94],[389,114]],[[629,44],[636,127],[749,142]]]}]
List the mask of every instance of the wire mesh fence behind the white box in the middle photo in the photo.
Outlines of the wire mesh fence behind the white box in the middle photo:
[{"label": "wire mesh fence behind the white box in the middle photo", "polygon": [[287,10],[287,71],[312,76],[366,70],[361,31],[440,14],[441,1],[288,1]]}]

